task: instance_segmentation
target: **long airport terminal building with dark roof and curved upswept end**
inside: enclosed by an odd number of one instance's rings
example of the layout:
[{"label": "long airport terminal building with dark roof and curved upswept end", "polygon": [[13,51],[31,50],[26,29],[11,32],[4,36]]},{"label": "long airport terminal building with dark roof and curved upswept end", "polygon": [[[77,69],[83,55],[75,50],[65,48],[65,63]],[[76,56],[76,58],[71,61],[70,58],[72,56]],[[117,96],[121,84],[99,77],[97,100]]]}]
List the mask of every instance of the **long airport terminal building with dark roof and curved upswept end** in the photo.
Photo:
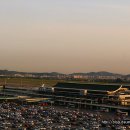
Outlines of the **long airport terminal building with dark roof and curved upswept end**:
[{"label": "long airport terminal building with dark roof and curved upswept end", "polygon": [[61,82],[53,87],[42,86],[39,93],[52,98],[55,105],[130,110],[129,85]]}]

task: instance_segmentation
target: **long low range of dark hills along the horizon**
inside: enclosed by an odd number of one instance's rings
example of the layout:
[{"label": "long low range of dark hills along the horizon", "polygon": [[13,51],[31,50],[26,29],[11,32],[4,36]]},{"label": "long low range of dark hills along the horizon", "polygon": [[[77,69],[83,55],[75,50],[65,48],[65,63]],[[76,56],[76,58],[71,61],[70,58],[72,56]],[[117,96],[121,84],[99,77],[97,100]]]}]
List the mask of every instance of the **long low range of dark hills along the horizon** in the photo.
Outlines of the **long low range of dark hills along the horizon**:
[{"label": "long low range of dark hills along the horizon", "polygon": [[117,73],[111,73],[106,71],[100,71],[100,72],[89,72],[89,73],[72,73],[72,74],[63,74],[58,72],[18,72],[18,71],[9,71],[9,70],[0,70],[0,75],[15,75],[15,74],[32,74],[37,76],[42,75],[48,75],[48,76],[58,76],[58,75],[82,75],[82,76],[121,76],[121,77],[130,77],[130,74],[128,75],[122,75]]}]

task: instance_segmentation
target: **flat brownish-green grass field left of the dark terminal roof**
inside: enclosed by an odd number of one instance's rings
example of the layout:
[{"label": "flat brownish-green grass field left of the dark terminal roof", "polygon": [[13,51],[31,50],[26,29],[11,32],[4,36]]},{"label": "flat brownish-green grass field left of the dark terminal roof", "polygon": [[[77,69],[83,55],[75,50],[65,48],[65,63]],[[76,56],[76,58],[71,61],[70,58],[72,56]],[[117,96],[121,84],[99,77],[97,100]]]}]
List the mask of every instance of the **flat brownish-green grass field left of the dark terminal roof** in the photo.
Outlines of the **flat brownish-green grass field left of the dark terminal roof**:
[{"label": "flat brownish-green grass field left of the dark terminal roof", "polygon": [[46,80],[46,79],[34,79],[34,78],[0,78],[0,85],[12,85],[17,87],[39,87],[42,84],[47,86],[53,86],[57,82],[63,82],[63,80]]}]

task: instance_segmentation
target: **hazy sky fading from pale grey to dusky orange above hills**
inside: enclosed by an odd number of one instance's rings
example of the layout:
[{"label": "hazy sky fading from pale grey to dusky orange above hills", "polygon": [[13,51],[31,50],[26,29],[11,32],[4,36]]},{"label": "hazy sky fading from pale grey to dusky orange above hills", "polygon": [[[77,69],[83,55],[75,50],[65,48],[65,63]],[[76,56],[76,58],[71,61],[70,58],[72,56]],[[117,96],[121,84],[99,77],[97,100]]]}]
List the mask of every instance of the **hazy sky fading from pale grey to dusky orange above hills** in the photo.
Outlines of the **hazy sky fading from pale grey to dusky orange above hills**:
[{"label": "hazy sky fading from pale grey to dusky orange above hills", "polygon": [[0,0],[0,69],[130,74],[130,0]]}]

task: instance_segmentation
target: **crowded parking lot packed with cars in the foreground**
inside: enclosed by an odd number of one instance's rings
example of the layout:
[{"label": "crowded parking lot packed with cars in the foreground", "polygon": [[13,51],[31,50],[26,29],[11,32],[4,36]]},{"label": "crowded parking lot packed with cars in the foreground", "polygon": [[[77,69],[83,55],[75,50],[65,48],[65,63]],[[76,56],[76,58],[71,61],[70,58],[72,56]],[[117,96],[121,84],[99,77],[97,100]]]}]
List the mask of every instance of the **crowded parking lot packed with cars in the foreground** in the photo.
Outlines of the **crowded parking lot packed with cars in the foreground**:
[{"label": "crowded parking lot packed with cars in the foreground", "polygon": [[0,108],[1,130],[128,130],[130,124],[128,117],[121,115],[50,107],[42,103],[3,102]]}]

